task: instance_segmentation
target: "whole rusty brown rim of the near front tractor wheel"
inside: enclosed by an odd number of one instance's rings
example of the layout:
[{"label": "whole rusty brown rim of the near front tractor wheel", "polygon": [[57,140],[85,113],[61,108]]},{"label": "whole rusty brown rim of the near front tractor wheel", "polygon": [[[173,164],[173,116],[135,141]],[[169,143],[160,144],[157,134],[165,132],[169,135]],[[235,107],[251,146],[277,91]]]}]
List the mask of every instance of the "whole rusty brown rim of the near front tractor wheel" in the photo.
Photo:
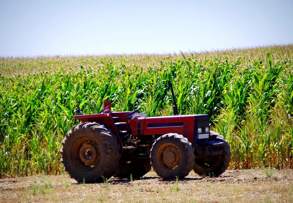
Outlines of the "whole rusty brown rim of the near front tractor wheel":
[{"label": "whole rusty brown rim of the near front tractor wheel", "polygon": [[163,168],[174,170],[180,164],[181,153],[175,145],[168,143],[159,148],[157,158]]}]

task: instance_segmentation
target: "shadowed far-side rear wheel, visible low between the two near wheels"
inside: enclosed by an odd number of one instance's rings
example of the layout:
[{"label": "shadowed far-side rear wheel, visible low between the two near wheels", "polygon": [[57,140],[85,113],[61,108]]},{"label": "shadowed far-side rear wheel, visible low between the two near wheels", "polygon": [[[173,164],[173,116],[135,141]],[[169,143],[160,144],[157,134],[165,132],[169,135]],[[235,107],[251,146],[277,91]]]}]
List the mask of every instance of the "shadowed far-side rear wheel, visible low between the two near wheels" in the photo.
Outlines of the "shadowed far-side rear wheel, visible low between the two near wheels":
[{"label": "shadowed far-side rear wheel, visible low between the two near wheels", "polygon": [[129,179],[131,175],[133,179],[138,179],[150,171],[150,168],[149,159],[120,160],[119,166],[113,176],[116,178]]}]

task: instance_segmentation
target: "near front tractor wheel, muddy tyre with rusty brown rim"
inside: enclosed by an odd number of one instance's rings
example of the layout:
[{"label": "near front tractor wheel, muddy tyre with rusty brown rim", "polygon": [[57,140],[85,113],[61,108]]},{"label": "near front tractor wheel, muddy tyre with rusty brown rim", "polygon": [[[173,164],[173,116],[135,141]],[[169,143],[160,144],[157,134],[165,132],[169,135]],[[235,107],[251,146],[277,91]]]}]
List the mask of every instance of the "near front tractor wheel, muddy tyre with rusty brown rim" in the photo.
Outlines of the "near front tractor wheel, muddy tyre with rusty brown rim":
[{"label": "near front tractor wheel, muddy tyre with rusty brown rim", "polygon": [[153,170],[163,179],[186,177],[194,164],[194,149],[188,139],[177,133],[159,137],[150,150]]}]

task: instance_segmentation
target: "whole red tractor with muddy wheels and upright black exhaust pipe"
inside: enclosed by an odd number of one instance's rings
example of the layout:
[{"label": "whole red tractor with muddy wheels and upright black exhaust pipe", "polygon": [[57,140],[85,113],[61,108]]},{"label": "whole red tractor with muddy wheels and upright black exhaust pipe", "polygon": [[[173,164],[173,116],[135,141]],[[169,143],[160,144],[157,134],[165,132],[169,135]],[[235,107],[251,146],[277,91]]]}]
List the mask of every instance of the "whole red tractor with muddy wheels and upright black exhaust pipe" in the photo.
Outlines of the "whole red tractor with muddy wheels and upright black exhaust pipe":
[{"label": "whole red tractor with muddy wheels and upright black exhaust pipe", "polygon": [[148,117],[139,111],[75,115],[82,123],[62,141],[62,163],[77,182],[102,182],[112,176],[133,179],[150,169],[163,179],[186,177],[193,169],[217,177],[229,166],[230,146],[209,131],[209,116],[178,115],[174,92],[173,116]]}]

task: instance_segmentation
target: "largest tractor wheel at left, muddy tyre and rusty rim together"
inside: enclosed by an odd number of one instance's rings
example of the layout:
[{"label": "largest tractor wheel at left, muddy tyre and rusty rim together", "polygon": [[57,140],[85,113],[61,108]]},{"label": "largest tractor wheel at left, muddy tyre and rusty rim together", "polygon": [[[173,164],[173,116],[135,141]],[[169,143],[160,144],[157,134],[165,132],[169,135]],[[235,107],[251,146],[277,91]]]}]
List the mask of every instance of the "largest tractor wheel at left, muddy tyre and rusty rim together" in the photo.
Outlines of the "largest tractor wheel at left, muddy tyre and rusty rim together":
[{"label": "largest tractor wheel at left, muddy tyre and rusty rim together", "polygon": [[65,171],[77,182],[102,182],[115,173],[119,148],[116,136],[104,126],[85,122],[66,133],[61,161]]}]

